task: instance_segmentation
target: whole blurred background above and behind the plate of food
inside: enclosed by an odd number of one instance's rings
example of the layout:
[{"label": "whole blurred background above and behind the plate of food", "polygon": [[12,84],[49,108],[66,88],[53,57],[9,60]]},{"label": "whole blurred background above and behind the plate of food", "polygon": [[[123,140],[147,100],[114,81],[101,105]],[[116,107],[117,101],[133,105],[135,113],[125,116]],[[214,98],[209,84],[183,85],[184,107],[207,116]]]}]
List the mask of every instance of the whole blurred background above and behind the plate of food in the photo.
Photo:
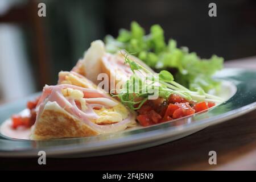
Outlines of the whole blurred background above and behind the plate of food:
[{"label": "whole blurred background above and behind the plate of food", "polygon": [[[38,3],[46,17],[38,16]],[[217,17],[208,16],[210,2]],[[256,55],[256,1],[189,0],[0,0],[0,104],[56,84],[90,42],[137,21],[147,31],[160,24],[167,40],[177,40],[204,58],[226,61]]]}]

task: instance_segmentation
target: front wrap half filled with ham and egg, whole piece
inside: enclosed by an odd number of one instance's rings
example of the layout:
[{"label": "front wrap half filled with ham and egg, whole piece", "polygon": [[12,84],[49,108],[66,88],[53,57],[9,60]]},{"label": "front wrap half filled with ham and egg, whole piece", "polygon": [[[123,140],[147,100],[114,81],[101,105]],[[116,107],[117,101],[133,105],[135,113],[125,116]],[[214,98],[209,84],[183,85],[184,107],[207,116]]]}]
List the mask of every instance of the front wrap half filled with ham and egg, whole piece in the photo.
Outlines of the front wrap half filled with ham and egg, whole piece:
[{"label": "front wrap half filled with ham and egg, whole piece", "polygon": [[76,72],[43,89],[31,139],[89,137],[135,126],[135,113]]}]

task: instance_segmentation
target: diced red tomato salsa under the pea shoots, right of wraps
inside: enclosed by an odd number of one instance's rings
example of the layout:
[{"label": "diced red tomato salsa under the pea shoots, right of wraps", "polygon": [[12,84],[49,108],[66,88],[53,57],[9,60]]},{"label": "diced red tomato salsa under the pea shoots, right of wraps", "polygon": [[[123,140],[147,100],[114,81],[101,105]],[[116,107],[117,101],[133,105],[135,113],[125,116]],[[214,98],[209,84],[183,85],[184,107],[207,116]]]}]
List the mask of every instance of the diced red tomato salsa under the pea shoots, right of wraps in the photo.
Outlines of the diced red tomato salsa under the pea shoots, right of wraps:
[{"label": "diced red tomato salsa under the pea shoots, right of wraps", "polygon": [[137,110],[139,113],[137,120],[142,126],[149,126],[195,114],[214,105],[214,102],[189,102],[177,94],[171,94],[168,100],[163,98],[147,100]]}]

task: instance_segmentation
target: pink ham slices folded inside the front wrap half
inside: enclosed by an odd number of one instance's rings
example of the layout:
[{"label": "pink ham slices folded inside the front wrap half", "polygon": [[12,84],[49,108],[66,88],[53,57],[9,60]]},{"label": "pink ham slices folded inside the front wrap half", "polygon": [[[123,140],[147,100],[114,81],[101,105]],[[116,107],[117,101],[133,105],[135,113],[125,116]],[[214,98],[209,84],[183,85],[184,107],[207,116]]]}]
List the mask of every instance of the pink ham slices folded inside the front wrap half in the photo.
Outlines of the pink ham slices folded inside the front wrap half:
[{"label": "pink ham slices folded inside the front wrap half", "polygon": [[[77,89],[84,92],[84,95],[88,97],[87,101],[89,101],[89,103],[87,103],[86,101],[86,106],[88,107],[88,109],[86,109],[86,111],[82,111],[79,109],[79,107],[77,107],[75,100],[72,100],[72,99],[68,100],[67,98],[65,98],[61,93],[61,89],[65,89],[65,88]],[[99,97],[101,98],[101,100],[102,98],[104,98],[104,101],[100,102],[99,100],[96,100],[96,98],[99,98]],[[39,100],[38,117],[40,117],[40,113],[42,113],[44,105],[47,103],[47,101],[57,102],[57,104],[60,107],[64,108],[66,111],[68,111],[68,113],[81,119],[81,121],[85,122],[86,125],[89,125],[90,127],[92,127],[92,129],[96,130],[98,133],[101,133],[101,134],[113,133],[113,132],[125,130],[126,127],[129,125],[129,123],[132,121],[132,119],[135,118],[134,113],[130,113],[129,117],[127,117],[126,119],[118,123],[113,123],[109,125],[97,125],[96,123],[91,122],[89,120],[90,118],[98,118],[98,115],[93,111],[93,107],[114,106],[114,101],[110,99],[110,96],[96,89],[85,89],[79,86],[74,86],[69,84],[46,86],[43,89],[42,96]]]}]

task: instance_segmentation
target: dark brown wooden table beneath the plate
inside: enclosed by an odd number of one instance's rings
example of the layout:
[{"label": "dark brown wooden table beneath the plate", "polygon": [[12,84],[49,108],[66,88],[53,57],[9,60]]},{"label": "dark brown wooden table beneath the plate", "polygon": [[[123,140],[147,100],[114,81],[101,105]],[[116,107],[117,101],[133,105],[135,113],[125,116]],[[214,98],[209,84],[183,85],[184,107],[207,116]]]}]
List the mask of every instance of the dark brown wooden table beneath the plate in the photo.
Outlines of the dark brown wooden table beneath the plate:
[{"label": "dark brown wooden table beneath the plate", "polygon": [[[256,57],[229,61],[226,67],[256,69]],[[217,152],[217,164],[208,163],[208,152]],[[160,146],[125,154],[84,158],[47,159],[1,158],[5,169],[91,169],[91,170],[256,170],[256,110],[210,126],[188,137]]]}]

